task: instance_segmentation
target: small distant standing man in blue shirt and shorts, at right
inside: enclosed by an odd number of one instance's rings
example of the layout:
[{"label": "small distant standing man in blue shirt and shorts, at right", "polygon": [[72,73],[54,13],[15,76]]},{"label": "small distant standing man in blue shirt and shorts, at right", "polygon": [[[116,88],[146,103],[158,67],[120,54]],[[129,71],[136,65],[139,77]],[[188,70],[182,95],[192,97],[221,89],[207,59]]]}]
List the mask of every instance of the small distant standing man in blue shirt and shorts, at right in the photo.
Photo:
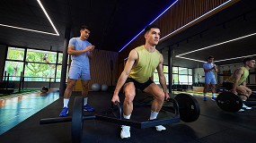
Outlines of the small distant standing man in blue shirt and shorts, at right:
[{"label": "small distant standing man in blue shirt and shorts, at right", "polygon": [[203,68],[205,71],[205,88],[204,88],[204,101],[207,100],[207,91],[208,88],[211,88],[212,91],[212,100],[216,100],[216,78],[215,78],[215,71],[217,72],[217,67],[214,62],[214,57],[210,55],[207,58],[207,63],[203,64]]}]

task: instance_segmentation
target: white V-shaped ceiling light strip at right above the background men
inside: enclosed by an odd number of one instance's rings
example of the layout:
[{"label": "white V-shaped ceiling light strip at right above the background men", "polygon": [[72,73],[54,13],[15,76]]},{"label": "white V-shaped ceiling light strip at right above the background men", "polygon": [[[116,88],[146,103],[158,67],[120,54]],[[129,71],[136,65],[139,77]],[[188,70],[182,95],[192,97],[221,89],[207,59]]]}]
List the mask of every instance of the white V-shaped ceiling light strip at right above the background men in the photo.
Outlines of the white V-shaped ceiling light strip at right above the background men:
[{"label": "white V-shaped ceiling light strip at right above the background men", "polygon": [[[225,41],[225,42],[221,42],[221,43],[214,44],[214,45],[212,45],[212,46],[202,47],[202,48],[199,48],[199,49],[196,49],[196,50],[193,50],[193,51],[190,51],[190,52],[181,54],[181,55],[188,55],[188,54],[190,54],[190,53],[194,53],[194,52],[198,52],[198,51],[201,51],[201,50],[205,50],[205,49],[210,48],[210,47],[220,46],[220,45],[223,45],[223,44],[226,44],[226,43],[230,43],[230,42],[233,42],[233,41],[236,41],[236,40],[239,40],[239,39],[243,39],[243,38],[249,38],[249,37],[252,37],[252,36],[254,36],[254,35],[256,35],[256,33],[252,33],[252,34],[249,34],[249,35],[240,37],[240,38],[230,39],[230,40],[227,40],[227,41]],[[197,61],[197,62],[205,63],[204,61],[200,61],[200,60],[197,60],[197,59],[190,59],[190,58],[188,58],[188,57],[184,57],[184,56],[181,56],[181,55],[176,55],[175,57],[179,57],[179,58],[183,58],[183,59],[187,59],[187,60],[192,60],[192,61]],[[229,61],[229,60],[234,60],[234,59],[239,59],[239,58],[243,58],[243,57],[246,57],[246,56],[254,56],[254,55],[244,55],[244,56],[234,57],[234,58],[230,58],[230,59],[218,60],[218,61],[215,61],[215,63],[217,63],[217,62],[223,62],[223,61]]]}]

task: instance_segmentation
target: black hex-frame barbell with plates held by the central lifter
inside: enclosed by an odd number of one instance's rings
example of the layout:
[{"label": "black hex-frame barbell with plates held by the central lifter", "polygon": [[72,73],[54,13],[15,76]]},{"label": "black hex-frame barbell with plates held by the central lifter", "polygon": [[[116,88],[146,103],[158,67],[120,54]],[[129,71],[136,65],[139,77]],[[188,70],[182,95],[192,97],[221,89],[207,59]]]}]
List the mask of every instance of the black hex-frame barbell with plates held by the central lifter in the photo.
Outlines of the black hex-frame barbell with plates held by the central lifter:
[{"label": "black hex-frame barbell with plates held by the central lifter", "polygon": [[[72,117],[57,117],[57,118],[47,118],[41,119],[40,124],[49,124],[57,122],[72,122],[71,126],[71,136],[73,143],[81,143],[83,137],[83,126],[85,120],[100,120],[103,122],[112,122],[119,125],[128,125],[135,127],[137,129],[145,129],[154,127],[157,125],[177,123],[177,122],[195,122],[199,118],[200,107],[197,100],[189,94],[178,94],[174,98],[169,98],[167,101],[168,105],[163,105],[162,110],[168,111],[174,114],[173,117],[165,117],[162,119],[152,120],[146,122],[137,122],[133,120],[126,120],[122,118],[122,105],[111,106],[111,114],[114,114],[114,117],[106,115],[110,112],[105,112],[105,114],[94,114],[94,115],[84,115],[83,114],[83,97],[75,97],[75,102],[73,105],[73,114]],[[170,104],[172,103],[172,104]],[[116,109],[118,109],[118,115],[115,114]]]}]

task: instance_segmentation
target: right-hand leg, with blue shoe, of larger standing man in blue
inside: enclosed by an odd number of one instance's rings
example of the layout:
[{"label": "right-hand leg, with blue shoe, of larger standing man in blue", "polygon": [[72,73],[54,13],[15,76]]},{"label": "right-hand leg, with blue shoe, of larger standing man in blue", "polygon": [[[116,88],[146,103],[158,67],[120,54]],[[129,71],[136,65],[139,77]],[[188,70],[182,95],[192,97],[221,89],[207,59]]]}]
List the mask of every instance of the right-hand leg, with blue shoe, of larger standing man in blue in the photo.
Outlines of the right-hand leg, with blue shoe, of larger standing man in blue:
[{"label": "right-hand leg, with blue shoe, of larger standing man in blue", "polygon": [[94,108],[88,105],[89,80],[81,80],[81,82],[82,82],[82,97],[84,97],[84,111],[93,112]]}]

